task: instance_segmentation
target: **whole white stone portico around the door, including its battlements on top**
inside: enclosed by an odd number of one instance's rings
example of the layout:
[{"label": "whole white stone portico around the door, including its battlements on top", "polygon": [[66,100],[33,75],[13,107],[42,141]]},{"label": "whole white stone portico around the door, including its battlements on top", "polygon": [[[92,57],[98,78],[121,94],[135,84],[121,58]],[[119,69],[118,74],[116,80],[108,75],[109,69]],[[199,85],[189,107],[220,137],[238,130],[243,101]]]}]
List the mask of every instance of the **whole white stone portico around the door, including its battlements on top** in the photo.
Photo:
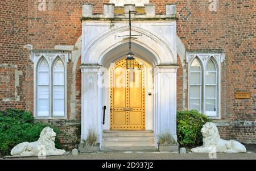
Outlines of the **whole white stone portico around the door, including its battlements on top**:
[{"label": "whole white stone portico around the door, including its battlements on top", "polygon": [[[152,5],[145,7],[154,9]],[[167,5],[167,9],[171,7]],[[129,51],[128,40],[118,37],[129,35],[129,18],[125,14],[112,14],[113,4],[105,4],[101,15],[93,15],[92,8],[93,5],[85,4],[82,12],[81,140],[93,130],[101,143],[102,131],[110,130],[109,70]],[[129,6],[125,6],[127,9]],[[176,18],[150,11],[150,15],[132,16],[131,29],[132,35],[142,35],[132,39],[131,51],[146,69],[146,130],[154,131],[155,141],[163,132],[171,132],[177,139]],[[105,124],[102,124],[103,106],[106,106]]]}]

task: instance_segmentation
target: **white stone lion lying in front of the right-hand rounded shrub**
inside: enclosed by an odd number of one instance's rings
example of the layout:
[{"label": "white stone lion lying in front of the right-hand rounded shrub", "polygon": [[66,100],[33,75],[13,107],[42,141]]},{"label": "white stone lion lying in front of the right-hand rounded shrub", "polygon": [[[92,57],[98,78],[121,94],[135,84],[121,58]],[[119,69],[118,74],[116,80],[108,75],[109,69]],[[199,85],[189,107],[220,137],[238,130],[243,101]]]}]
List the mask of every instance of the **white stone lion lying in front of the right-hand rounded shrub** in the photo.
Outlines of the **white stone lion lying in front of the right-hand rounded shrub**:
[{"label": "white stone lion lying in front of the right-hand rounded shrub", "polygon": [[223,140],[218,134],[216,124],[207,122],[201,129],[203,135],[203,146],[192,148],[194,153],[210,153],[210,152],[224,152],[224,153],[245,153],[246,148],[243,144],[235,140]]}]

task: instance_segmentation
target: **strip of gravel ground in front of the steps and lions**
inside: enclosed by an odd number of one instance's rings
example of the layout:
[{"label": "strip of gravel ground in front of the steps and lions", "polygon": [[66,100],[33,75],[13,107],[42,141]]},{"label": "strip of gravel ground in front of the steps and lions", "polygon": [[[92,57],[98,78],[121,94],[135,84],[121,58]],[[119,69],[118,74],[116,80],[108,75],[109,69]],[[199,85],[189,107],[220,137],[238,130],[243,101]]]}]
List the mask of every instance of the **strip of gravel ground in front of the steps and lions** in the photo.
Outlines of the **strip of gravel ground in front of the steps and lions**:
[{"label": "strip of gravel ground in front of the steps and lions", "polygon": [[[256,160],[256,153],[225,154],[217,153],[217,159]],[[19,158],[18,160],[38,160],[38,157]],[[48,156],[47,160],[210,160],[207,153],[159,153],[159,152],[101,152],[82,153],[78,156]]]}]

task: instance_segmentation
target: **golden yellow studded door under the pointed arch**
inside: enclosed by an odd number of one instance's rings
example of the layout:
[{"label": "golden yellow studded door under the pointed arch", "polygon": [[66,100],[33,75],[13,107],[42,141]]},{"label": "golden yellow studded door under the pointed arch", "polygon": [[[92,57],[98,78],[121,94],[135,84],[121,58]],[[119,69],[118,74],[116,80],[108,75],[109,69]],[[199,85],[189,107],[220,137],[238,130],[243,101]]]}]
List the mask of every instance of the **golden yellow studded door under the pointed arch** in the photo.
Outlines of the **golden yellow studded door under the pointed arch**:
[{"label": "golden yellow studded door under the pointed arch", "polygon": [[145,130],[145,71],[137,61],[126,69],[126,59],[110,69],[110,130]]}]

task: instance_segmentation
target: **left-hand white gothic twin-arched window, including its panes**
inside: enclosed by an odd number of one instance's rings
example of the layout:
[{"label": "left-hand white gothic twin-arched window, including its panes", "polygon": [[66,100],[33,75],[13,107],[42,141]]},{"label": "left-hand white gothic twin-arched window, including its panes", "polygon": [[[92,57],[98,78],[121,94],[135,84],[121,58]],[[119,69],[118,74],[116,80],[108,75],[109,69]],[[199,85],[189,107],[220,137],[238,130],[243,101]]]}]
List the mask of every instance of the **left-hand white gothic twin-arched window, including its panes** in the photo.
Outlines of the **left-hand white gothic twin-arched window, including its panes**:
[{"label": "left-hand white gothic twin-arched window, including its panes", "polygon": [[34,115],[36,118],[67,116],[68,54],[32,53],[34,68]]}]

